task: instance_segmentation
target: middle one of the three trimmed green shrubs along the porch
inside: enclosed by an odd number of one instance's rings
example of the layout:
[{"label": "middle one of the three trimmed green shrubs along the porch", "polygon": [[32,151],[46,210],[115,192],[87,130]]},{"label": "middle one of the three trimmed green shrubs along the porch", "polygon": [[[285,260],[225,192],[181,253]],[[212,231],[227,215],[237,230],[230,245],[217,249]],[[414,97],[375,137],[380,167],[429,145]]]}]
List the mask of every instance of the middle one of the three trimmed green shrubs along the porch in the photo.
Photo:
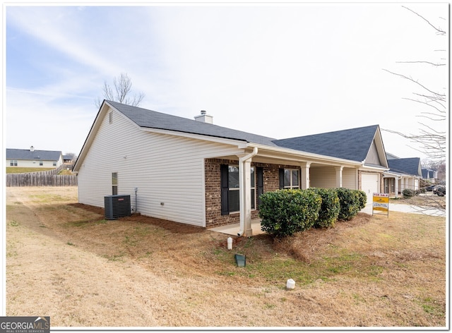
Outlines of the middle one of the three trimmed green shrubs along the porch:
[{"label": "middle one of the three trimmed green shrubs along the porch", "polygon": [[340,212],[340,202],[336,190],[334,188],[309,188],[309,190],[314,191],[322,198],[319,218],[314,222],[314,227],[329,228],[334,226]]}]

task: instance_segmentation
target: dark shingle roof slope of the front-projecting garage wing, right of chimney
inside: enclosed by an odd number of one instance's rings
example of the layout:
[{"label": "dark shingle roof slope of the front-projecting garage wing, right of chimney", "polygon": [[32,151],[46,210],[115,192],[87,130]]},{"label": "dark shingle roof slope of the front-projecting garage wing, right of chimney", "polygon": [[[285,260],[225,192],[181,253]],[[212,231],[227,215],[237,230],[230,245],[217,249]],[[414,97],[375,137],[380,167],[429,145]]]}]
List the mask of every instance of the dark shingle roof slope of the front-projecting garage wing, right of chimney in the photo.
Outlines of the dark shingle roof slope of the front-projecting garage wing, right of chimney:
[{"label": "dark shingle roof slope of the front-projecting garage wing, right of chimney", "polygon": [[362,162],[367,157],[378,127],[378,125],[374,125],[299,136],[297,138],[275,140],[273,143],[280,147]]}]

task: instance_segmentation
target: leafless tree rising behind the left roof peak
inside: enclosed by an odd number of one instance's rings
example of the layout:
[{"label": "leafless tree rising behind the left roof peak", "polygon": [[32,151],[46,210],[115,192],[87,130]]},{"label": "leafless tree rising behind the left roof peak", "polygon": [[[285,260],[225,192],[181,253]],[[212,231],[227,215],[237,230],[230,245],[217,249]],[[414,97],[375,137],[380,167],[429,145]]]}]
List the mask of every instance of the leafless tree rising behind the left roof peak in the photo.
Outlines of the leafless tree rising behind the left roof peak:
[{"label": "leafless tree rising behind the left roof peak", "polygon": [[[138,92],[138,94],[130,95],[132,81],[126,73],[121,73],[119,78],[114,78],[113,85],[114,89],[107,82],[104,83],[104,86],[102,87],[104,99],[138,107],[145,97],[144,92]],[[95,101],[95,104],[96,107],[99,108],[100,105],[102,105],[102,100],[98,98]]]}]

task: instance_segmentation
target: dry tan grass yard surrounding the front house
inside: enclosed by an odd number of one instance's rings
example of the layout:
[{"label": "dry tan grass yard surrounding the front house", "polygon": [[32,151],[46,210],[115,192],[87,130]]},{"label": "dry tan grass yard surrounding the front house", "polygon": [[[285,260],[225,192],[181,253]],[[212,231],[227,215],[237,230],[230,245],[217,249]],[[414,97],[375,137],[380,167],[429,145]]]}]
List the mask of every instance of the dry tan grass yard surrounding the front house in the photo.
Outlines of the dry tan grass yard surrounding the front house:
[{"label": "dry tan grass yard surrounding the front house", "polygon": [[444,217],[359,213],[227,250],[227,235],[199,227],[105,220],[76,187],[6,188],[6,201],[8,316],[54,328],[446,326]]}]

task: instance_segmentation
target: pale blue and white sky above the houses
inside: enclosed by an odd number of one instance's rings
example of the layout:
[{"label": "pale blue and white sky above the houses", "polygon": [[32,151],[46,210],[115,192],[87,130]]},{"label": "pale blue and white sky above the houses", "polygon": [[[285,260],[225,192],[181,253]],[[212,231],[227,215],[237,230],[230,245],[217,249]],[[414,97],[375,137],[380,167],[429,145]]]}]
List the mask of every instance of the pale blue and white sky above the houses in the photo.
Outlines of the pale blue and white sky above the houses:
[{"label": "pale blue and white sky above the houses", "polygon": [[[404,4],[448,29],[448,4]],[[4,5],[4,147],[78,155],[102,85],[127,73],[141,107],[290,138],[379,124],[417,133],[412,76],[448,92],[437,36],[402,4]],[[435,52],[444,49],[446,52]],[[6,111],[6,112],[5,112]],[[441,123],[446,131],[447,123]],[[435,125],[437,126],[437,125]],[[386,151],[421,157],[383,131]]]}]

